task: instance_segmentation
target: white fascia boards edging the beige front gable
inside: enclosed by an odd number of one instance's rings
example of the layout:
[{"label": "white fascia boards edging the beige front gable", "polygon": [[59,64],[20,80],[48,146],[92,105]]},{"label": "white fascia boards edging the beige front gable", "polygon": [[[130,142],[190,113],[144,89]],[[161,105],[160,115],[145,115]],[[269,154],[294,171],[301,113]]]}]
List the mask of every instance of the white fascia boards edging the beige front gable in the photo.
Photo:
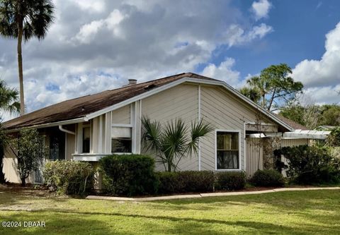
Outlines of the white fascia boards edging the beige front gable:
[{"label": "white fascia boards edging the beige front gable", "polygon": [[269,118],[273,119],[274,121],[279,123],[281,126],[284,126],[289,131],[293,131],[294,130],[287,123],[284,123],[283,121],[278,119],[276,116],[271,114],[271,112],[268,112],[266,109],[263,109],[262,107],[260,107],[259,105],[255,104],[254,102],[249,100],[247,97],[242,95],[238,90],[232,88],[231,85],[228,85],[227,83],[225,83],[223,81],[218,81],[218,80],[205,80],[205,79],[188,78],[188,77],[184,77],[184,78],[176,80],[176,81],[174,81],[172,83],[169,83],[169,84],[166,84],[166,85],[162,85],[159,88],[155,88],[153,90],[150,90],[149,92],[144,92],[141,95],[136,95],[135,97],[131,97],[130,99],[124,100],[123,102],[120,102],[118,104],[113,104],[112,106],[106,107],[105,109],[98,110],[97,112],[93,112],[91,114],[87,114],[84,119],[85,119],[85,121],[89,121],[89,119],[94,119],[96,116],[99,116],[101,114],[105,114],[107,112],[111,112],[111,111],[113,111],[115,109],[119,109],[120,107],[123,107],[123,106],[125,106],[127,104],[130,104],[132,102],[136,102],[137,100],[142,100],[142,99],[144,99],[146,97],[149,97],[151,95],[157,94],[158,92],[162,92],[163,90],[166,90],[166,89],[169,89],[169,88],[173,88],[174,86],[179,85],[181,83],[185,83],[185,82],[200,83],[200,84],[206,84],[206,85],[220,85],[223,88],[225,88],[225,89],[229,90],[230,92],[232,92],[234,95],[237,95],[237,97],[241,98],[242,100],[244,100],[246,103],[250,104],[255,109],[258,109],[263,114],[266,114],[266,116],[268,116]]}]

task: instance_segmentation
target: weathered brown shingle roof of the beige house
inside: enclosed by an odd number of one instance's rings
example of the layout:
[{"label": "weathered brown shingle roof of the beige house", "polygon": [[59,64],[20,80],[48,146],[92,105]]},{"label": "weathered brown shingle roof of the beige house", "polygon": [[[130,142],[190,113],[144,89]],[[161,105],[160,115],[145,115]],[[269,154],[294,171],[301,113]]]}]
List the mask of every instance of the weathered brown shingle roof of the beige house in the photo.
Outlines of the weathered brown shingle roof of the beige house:
[{"label": "weathered brown shingle roof of the beige house", "polygon": [[195,73],[180,73],[174,76],[159,78],[145,83],[137,83],[115,90],[106,90],[94,95],[86,95],[72,100],[66,100],[35,112],[19,116],[16,119],[6,121],[4,128],[16,129],[27,126],[41,125],[45,123],[55,123],[57,121],[66,121],[77,119],[91,114],[98,110],[118,104],[131,97],[135,97],[154,88],[174,82],[184,77],[198,78],[204,80],[215,80]]}]

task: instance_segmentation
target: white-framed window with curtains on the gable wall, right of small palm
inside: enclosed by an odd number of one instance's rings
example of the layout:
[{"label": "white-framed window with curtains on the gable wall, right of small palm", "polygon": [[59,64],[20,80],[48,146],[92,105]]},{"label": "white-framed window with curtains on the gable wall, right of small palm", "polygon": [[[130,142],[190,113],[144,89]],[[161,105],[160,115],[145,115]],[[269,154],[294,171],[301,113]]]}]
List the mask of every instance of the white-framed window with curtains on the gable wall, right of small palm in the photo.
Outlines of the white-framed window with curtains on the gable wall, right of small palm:
[{"label": "white-framed window with curtains on the gable wall, right of small palm", "polygon": [[217,131],[217,169],[239,169],[239,133]]}]

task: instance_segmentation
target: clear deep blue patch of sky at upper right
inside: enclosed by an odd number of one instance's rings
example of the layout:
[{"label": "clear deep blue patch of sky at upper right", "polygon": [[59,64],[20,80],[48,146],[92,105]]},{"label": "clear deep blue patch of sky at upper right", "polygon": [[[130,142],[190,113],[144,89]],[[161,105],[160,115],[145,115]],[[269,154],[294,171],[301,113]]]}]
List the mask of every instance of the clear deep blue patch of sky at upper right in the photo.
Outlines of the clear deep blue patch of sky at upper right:
[{"label": "clear deep blue patch of sky at upper right", "polygon": [[[249,11],[254,1],[234,1]],[[220,64],[225,56],[235,59],[234,69],[246,77],[271,64],[286,63],[294,68],[304,59],[319,60],[324,54],[325,35],[340,21],[340,1],[285,0],[271,1],[267,18],[259,20],[273,27],[273,32],[261,40],[241,47],[219,47],[210,63]],[[201,72],[204,66],[197,69]]]}]

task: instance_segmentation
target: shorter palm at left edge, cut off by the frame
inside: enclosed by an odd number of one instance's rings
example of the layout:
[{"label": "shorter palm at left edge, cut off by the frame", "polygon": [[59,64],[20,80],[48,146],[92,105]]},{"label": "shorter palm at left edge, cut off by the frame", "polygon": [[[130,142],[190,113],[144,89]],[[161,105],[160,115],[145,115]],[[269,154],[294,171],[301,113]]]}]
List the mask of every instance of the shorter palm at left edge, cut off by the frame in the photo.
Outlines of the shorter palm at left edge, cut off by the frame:
[{"label": "shorter palm at left edge, cut off by the frame", "polygon": [[[0,112],[16,113],[20,111],[20,103],[18,102],[18,90],[8,88],[4,80],[0,80]],[[5,183],[5,175],[3,171],[4,163],[4,146],[7,143],[7,136],[1,123],[0,116],[0,183]]]}]

